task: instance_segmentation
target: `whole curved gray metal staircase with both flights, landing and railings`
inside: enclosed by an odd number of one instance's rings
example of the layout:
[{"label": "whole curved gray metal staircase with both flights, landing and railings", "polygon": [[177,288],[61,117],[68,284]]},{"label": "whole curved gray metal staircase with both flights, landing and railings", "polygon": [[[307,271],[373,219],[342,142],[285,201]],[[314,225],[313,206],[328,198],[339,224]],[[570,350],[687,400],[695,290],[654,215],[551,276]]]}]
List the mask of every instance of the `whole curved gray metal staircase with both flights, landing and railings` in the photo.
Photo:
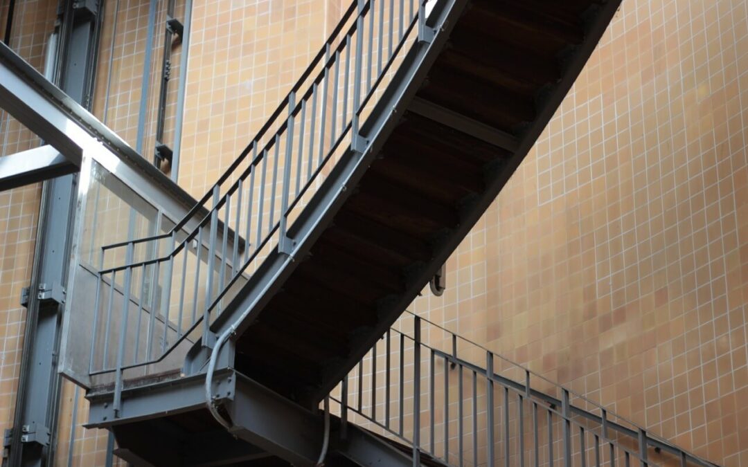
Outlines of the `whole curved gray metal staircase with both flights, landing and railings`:
[{"label": "whole curved gray metal staircase with both flights, landing and railings", "polygon": [[74,325],[90,344],[90,426],[137,466],[328,453],[341,466],[654,465],[655,448],[711,465],[568,391],[533,389],[518,367],[503,376],[485,350],[473,362],[420,326],[388,331],[533,146],[619,3],[353,1],[181,220],[91,253],[94,282],[70,291],[93,306]]}]

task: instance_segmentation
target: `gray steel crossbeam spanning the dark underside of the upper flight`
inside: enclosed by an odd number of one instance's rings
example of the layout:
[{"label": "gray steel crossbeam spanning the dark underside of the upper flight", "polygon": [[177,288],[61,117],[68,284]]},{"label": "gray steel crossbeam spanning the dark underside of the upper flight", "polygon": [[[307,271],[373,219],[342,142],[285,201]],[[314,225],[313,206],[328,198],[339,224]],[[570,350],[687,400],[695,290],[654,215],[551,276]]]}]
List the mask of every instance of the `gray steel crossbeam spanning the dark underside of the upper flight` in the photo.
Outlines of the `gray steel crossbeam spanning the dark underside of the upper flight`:
[{"label": "gray steel crossbeam spanning the dark underside of the upper flight", "polygon": [[519,147],[518,138],[512,134],[502,132],[485,123],[480,123],[477,120],[465,117],[465,115],[458,114],[456,111],[441,107],[441,105],[436,105],[420,97],[416,97],[411,101],[411,104],[408,105],[408,111],[426,117],[429,120],[434,120],[442,125],[449,126],[459,132],[469,134],[486,143],[506,149],[509,152],[515,152]]}]

